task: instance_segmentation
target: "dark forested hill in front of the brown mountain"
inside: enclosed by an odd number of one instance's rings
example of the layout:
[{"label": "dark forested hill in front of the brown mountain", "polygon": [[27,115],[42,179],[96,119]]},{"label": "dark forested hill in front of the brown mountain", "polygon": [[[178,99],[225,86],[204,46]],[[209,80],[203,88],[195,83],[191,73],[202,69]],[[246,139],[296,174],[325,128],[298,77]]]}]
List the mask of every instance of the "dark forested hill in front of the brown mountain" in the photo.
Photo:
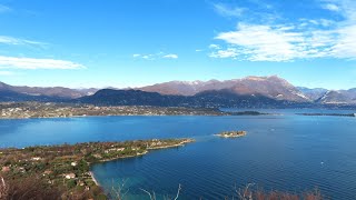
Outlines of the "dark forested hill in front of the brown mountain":
[{"label": "dark forested hill in front of the brown mountain", "polygon": [[97,106],[159,106],[191,108],[285,108],[310,103],[280,101],[265,96],[236,94],[231,90],[204,91],[195,96],[167,96],[140,90],[99,90],[96,94],[77,102]]}]

